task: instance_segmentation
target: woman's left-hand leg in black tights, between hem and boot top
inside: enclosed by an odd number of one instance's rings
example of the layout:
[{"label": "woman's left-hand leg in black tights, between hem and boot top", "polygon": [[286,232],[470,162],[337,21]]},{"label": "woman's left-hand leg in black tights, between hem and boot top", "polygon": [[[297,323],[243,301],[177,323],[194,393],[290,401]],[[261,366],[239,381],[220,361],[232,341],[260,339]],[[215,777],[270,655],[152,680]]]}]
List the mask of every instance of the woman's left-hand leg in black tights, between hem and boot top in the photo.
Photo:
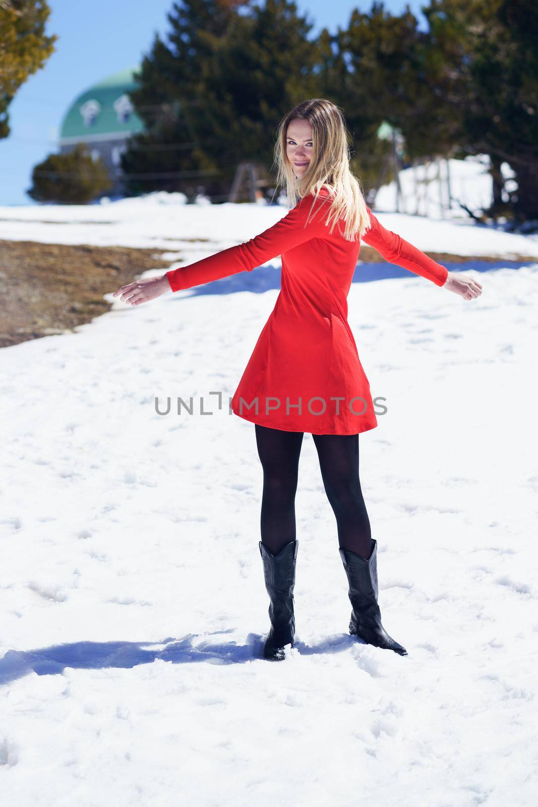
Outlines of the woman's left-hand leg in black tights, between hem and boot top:
[{"label": "woman's left-hand leg in black tights, between hem and boot top", "polygon": [[295,540],[295,493],[303,433],[255,426],[264,471],[261,542],[276,555]]}]

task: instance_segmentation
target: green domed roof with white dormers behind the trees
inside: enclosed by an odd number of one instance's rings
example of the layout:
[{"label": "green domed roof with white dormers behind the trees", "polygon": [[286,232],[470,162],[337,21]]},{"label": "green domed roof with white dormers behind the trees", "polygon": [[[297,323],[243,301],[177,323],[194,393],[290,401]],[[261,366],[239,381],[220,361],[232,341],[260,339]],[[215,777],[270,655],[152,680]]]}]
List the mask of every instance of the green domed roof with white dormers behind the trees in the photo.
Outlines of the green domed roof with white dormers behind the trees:
[{"label": "green domed roof with white dormers behind the trees", "polygon": [[144,130],[129,92],[136,88],[131,67],[113,73],[81,93],[69,107],[60,128],[60,142],[128,137]]}]

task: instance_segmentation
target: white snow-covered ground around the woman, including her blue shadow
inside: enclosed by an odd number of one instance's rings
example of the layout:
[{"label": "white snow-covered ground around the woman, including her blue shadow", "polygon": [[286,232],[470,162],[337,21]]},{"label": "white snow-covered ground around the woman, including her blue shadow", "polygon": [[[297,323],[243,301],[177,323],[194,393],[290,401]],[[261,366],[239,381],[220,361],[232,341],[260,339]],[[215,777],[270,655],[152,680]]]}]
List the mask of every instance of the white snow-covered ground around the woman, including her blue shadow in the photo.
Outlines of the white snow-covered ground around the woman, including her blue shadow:
[{"label": "white snow-covered ground around the woman, including her blue shadow", "polygon": [[[285,212],[240,210],[2,208],[0,237],[155,245],[188,263]],[[36,223],[56,216],[67,223]],[[99,216],[111,224],[84,223]],[[425,251],[538,256],[488,228],[380,220]],[[259,658],[262,474],[227,399],[276,290],[215,283],[135,308],[108,295],[111,312],[77,332],[0,351],[5,804],[536,804],[538,263],[465,274],[481,298],[411,273],[349,293],[388,410],[359,438],[361,481],[383,621],[406,658],[348,636],[309,434],[297,644],[284,663]],[[161,416],[156,396],[192,396],[198,414]]]}]

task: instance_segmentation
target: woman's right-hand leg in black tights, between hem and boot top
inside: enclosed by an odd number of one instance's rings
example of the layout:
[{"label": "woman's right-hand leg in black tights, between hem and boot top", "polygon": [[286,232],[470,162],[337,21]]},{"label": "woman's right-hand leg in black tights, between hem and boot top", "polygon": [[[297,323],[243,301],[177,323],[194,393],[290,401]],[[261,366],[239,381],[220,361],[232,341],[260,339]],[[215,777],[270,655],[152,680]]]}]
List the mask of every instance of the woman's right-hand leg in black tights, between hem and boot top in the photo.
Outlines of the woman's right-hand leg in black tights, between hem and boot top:
[{"label": "woman's right-hand leg in black tights, between hem and boot top", "polygon": [[372,533],[359,479],[358,434],[313,434],[323,486],[336,516],[340,548],[368,559]]}]

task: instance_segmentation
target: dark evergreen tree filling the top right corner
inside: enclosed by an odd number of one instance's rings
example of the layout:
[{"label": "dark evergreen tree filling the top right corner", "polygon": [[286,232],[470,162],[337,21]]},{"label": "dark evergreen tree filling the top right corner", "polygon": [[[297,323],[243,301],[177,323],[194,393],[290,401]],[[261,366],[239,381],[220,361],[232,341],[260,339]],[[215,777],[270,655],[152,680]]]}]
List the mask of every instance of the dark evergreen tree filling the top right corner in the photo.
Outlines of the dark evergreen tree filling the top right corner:
[{"label": "dark evergreen tree filling the top right corner", "polygon": [[[538,219],[538,6],[535,0],[431,0],[428,48],[440,69],[432,90],[453,112],[461,156],[490,155],[490,213]],[[435,56],[434,56],[435,55]],[[519,188],[500,199],[500,165]]]}]

